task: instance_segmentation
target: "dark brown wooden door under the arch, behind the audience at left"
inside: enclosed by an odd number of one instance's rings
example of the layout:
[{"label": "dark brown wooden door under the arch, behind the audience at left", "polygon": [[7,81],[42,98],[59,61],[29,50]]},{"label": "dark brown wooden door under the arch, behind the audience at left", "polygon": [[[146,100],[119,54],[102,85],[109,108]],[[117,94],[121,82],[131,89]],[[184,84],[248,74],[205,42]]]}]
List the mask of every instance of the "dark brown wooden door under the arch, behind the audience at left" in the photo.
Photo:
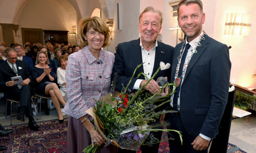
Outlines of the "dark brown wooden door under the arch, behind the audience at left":
[{"label": "dark brown wooden door under the arch, behind the audience at left", "polygon": [[33,43],[42,42],[42,29],[33,29],[33,28],[22,28],[22,41],[25,44],[30,42],[31,47]]}]

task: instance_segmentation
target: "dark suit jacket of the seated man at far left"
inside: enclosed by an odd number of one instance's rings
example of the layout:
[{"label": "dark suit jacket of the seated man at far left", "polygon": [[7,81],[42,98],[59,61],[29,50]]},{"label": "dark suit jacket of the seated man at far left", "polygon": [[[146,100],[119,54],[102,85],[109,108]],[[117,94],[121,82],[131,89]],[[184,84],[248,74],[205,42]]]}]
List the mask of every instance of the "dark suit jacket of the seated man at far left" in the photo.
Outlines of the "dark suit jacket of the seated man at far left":
[{"label": "dark suit jacket of the seated man at far left", "polygon": [[[29,71],[27,64],[24,61],[16,61],[17,73],[20,75],[23,80],[29,78],[32,81],[32,75]],[[16,88],[17,85],[12,87],[7,87],[6,82],[11,81],[12,77],[16,77],[17,75],[14,73],[13,69],[9,66],[7,61],[3,62],[0,65],[0,87],[4,92],[11,91]]]}]

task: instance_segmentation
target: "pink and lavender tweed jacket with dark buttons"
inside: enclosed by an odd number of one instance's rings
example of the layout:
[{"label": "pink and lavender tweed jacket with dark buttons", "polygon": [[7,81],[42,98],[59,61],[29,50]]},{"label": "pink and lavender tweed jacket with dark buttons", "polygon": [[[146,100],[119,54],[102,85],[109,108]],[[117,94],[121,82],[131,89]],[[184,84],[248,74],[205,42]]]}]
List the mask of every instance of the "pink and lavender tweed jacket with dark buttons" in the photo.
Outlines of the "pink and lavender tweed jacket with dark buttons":
[{"label": "pink and lavender tweed jacket with dark buttons", "polygon": [[100,50],[98,60],[88,46],[69,56],[66,68],[68,101],[63,112],[74,118],[86,115],[86,110],[95,106],[110,92],[114,54]]}]

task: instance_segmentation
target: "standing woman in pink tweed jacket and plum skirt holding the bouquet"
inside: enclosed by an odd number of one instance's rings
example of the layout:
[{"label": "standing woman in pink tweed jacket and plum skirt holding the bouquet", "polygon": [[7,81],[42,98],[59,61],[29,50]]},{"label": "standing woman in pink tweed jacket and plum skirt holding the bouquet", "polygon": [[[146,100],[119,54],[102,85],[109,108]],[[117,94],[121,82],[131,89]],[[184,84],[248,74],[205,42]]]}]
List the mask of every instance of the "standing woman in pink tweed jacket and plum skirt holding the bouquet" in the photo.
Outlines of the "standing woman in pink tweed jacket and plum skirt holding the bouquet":
[{"label": "standing woman in pink tweed jacket and plum skirt holding the bouquet", "polygon": [[[104,138],[94,130],[92,117],[86,113],[94,107],[95,99],[110,92],[110,75],[114,54],[102,50],[109,45],[110,30],[99,17],[81,19],[78,37],[83,48],[69,56],[66,69],[68,102],[63,112],[69,115],[67,152],[82,152],[91,143],[104,146]],[[100,152],[116,152],[108,145]]]}]

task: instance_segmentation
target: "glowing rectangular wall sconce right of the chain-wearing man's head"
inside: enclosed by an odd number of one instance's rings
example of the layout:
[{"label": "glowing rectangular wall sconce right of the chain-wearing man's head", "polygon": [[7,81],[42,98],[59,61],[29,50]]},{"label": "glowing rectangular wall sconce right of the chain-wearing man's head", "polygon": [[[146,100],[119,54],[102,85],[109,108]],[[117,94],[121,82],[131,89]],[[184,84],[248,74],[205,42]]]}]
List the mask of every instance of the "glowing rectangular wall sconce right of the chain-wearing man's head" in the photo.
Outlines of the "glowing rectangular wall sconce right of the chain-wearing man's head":
[{"label": "glowing rectangular wall sconce right of the chain-wearing man's head", "polygon": [[243,13],[227,13],[224,35],[249,36],[251,15]]}]

